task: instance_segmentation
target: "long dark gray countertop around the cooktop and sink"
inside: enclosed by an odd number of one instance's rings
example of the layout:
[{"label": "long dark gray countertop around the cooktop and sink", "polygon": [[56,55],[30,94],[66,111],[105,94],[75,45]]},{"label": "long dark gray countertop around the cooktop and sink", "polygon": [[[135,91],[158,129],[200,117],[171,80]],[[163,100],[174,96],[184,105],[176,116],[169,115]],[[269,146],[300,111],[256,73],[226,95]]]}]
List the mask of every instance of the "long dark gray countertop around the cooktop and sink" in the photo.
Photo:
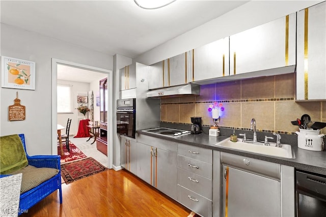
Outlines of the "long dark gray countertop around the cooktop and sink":
[{"label": "long dark gray countertop around the cooktop and sink", "polygon": [[[216,143],[229,138],[228,136],[212,137],[212,136],[208,136],[208,134],[206,133],[202,133],[198,135],[189,134],[177,138],[172,138],[172,137],[151,134],[143,131],[137,131],[137,133],[160,138],[160,139],[166,139],[170,141],[184,143],[188,145],[195,145],[203,148],[209,148],[212,150],[233,153],[248,158],[269,161],[277,164],[291,166],[296,169],[301,169],[301,170],[306,170],[306,171],[311,171],[311,172],[326,175],[326,150],[323,151],[305,150],[305,149],[298,148],[297,145],[291,144],[292,153],[294,152],[295,159],[287,159],[287,158],[278,158],[274,156],[267,156],[264,154],[258,154],[258,153],[247,152],[242,150],[229,149],[229,148],[215,145]],[[286,140],[285,141],[281,140],[281,142],[284,144],[290,144],[287,143]]]}]

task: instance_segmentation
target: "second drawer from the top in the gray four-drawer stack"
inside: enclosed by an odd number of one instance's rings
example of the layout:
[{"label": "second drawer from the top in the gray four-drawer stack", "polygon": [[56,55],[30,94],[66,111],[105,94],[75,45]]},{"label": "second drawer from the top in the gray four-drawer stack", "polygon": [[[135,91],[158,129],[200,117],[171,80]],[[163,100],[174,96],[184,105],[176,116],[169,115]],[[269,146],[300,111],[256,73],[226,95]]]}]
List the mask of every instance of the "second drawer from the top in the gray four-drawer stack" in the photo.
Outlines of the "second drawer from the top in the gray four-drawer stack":
[{"label": "second drawer from the top in the gray four-drawer stack", "polygon": [[178,167],[212,179],[212,165],[178,155]]}]

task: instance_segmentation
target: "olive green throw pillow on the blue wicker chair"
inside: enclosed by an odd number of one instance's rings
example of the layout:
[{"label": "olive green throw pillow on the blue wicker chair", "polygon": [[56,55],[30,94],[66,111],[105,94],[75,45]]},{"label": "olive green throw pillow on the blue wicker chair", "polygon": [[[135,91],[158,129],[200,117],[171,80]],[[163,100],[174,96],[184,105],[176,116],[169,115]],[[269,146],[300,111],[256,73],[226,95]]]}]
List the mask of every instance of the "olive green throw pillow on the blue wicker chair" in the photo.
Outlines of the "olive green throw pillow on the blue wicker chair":
[{"label": "olive green throw pillow on the blue wicker chair", "polygon": [[8,174],[28,165],[18,134],[0,137],[0,174]]}]

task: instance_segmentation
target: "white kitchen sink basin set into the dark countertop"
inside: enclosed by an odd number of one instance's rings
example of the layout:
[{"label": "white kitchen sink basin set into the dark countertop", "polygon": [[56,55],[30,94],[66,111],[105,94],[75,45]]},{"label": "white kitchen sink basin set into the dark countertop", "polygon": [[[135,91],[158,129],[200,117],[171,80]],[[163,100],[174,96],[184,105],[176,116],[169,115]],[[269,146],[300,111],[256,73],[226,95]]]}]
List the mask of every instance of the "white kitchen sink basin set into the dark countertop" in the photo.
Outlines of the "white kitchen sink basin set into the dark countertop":
[{"label": "white kitchen sink basin set into the dark countertop", "polygon": [[276,144],[273,142],[269,142],[269,145],[264,145],[264,143],[261,142],[242,142],[242,139],[238,139],[237,142],[232,142],[230,141],[230,138],[228,138],[219,143],[216,143],[215,145],[280,158],[294,158],[294,156],[292,155],[291,145],[288,144],[282,144],[282,147],[276,147]]}]

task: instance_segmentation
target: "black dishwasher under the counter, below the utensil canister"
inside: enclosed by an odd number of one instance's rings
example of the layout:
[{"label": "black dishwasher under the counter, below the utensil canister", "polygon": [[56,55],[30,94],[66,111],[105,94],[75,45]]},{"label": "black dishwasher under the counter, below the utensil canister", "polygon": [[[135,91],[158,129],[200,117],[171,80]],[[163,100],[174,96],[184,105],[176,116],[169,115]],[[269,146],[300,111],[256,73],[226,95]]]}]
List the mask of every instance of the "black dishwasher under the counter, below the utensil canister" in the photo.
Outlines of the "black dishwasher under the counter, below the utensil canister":
[{"label": "black dishwasher under the counter, below the utensil canister", "polygon": [[296,170],[296,213],[299,217],[326,216],[326,176]]}]

